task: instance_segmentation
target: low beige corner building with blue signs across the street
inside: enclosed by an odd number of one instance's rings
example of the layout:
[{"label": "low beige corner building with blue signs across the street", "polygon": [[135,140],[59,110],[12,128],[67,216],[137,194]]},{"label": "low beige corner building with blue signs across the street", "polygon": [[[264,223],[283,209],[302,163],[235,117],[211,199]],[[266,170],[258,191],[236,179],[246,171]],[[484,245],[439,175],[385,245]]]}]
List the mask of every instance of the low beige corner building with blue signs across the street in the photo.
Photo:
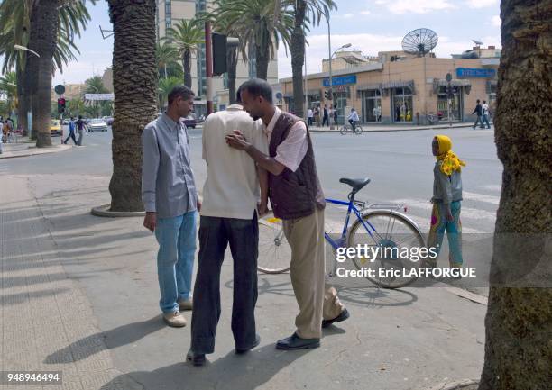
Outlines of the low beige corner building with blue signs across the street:
[{"label": "low beige corner building with blue signs across the street", "polygon": [[[382,53],[381,53],[382,54]],[[390,56],[388,56],[390,57]],[[385,57],[386,58],[386,57]],[[390,58],[397,59],[396,56]],[[486,100],[493,112],[499,59],[438,59],[407,57],[371,62],[333,71],[334,100],[325,100],[328,72],[308,75],[309,106],[335,104],[338,122],[354,108],[363,123],[428,123],[428,116],[453,122],[474,120],[476,99]],[[446,74],[452,76],[454,96],[449,113]],[[291,78],[281,79],[284,108],[294,111]],[[301,102],[301,104],[304,104]]]}]

